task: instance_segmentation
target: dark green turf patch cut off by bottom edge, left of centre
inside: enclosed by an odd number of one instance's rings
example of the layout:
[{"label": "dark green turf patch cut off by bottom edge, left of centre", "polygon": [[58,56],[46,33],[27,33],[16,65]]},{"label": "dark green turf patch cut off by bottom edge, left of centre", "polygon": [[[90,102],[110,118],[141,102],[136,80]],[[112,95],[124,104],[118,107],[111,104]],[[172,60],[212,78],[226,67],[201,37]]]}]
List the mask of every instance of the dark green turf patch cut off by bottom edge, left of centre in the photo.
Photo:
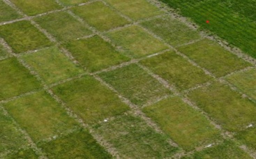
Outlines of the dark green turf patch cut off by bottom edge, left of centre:
[{"label": "dark green turf patch cut off by bottom edge, left of centre", "polygon": [[78,130],[66,137],[40,144],[48,158],[112,158],[86,130]]}]

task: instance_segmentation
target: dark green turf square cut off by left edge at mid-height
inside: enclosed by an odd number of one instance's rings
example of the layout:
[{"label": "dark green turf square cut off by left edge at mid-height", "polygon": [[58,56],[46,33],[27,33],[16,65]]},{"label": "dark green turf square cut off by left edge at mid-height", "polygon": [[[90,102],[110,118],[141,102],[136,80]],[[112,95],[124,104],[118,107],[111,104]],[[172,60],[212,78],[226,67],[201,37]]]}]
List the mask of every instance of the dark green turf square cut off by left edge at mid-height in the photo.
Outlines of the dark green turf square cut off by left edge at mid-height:
[{"label": "dark green turf square cut off by left edge at mid-height", "polygon": [[38,89],[40,83],[15,58],[0,61],[0,100]]}]

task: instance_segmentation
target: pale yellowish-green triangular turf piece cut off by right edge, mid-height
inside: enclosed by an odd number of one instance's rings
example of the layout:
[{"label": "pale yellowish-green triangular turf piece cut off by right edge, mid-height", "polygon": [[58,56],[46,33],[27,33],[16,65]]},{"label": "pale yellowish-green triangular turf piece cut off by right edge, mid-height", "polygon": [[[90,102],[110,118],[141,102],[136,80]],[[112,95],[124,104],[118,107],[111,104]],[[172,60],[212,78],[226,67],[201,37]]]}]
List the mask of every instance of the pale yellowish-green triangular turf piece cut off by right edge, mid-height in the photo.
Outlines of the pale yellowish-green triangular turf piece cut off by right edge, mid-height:
[{"label": "pale yellowish-green triangular turf piece cut off by right edge, mid-height", "polygon": [[256,100],[256,70],[252,68],[246,72],[236,73],[226,77],[227,81],[234,84],[243,93],[248,94],[251,98]]}]

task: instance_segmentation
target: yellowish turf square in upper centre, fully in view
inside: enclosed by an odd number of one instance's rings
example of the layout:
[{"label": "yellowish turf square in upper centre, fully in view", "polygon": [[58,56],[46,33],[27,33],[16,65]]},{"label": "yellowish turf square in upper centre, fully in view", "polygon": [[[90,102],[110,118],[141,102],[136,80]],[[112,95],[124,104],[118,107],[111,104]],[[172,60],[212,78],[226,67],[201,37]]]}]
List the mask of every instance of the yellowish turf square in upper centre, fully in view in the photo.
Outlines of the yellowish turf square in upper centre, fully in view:
[{"label": "yellowish turf square in upper centre, fully in view", "polygon": [[146,33],[140,27],[132,26],[107,33],[113,43],[120,45],[126,54],[133,57],[145,56],[166,50],[167,45]]}]

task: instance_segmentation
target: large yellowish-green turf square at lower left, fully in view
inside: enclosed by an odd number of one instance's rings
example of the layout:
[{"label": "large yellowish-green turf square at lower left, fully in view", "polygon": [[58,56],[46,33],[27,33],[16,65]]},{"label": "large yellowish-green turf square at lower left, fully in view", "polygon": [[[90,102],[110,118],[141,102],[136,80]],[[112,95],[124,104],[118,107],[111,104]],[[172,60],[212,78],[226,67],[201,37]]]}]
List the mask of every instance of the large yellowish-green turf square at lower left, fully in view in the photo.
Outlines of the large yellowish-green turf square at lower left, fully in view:
[{"label": "large yellowish-green turf square at lower left, fully in view", "polygon": [[78,126],[66,110],[43,91],[18,98],[3,106],[36,142]]}]

